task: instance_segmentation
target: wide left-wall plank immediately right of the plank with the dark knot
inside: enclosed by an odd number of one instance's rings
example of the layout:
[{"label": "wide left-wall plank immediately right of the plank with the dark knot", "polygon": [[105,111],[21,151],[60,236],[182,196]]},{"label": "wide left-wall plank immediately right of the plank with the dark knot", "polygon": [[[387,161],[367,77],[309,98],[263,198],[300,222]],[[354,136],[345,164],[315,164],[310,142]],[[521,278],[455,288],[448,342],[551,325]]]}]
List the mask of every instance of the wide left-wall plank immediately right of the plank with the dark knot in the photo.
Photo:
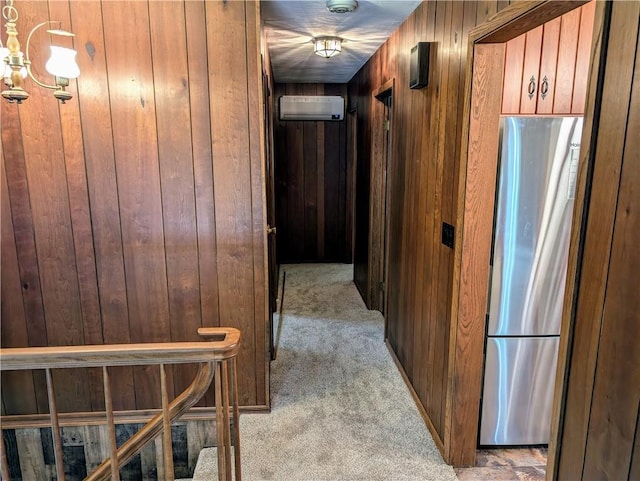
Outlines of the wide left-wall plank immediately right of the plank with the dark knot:
[{"label": "wide left-wall plank immediately right of the plank with the dark knot", "polygon": [[[122,16],[122,5],[106,2],[102,13],[130,337],[132,342],[161,341],[171,325],[149,10],[135,2]],[[171,371],[167,374],[172,385]],[[134,379],[137,408],[160,406],[157,368],[137,367]]]}]

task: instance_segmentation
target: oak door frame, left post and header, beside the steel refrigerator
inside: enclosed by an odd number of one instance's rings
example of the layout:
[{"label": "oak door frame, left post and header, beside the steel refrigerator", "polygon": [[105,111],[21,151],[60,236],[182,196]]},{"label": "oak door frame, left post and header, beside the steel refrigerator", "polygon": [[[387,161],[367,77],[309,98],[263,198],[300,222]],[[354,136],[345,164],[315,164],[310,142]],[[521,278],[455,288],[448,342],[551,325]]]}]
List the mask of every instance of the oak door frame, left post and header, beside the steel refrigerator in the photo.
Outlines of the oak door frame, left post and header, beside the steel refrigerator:
[{"label": "oak door frame, left post and header, beside the steel refrigerator", "polygon": [[[472,304],[477,302],[477,308],[480,308],[482,304],[481,301],[484,299],[484,306],[486,306],[487,295],[486,288],[483,289],[482,286],[478,285],[477,278],[464,277],[463,275],[465,270],[468,274],[472,266],[480,265],[477,259],[478,256],[475,254],[478,250],[477,245],[474,247],[474,256],[476,259],[468,260],[466,256],[463,255],[464,243],[470,241],[467,239],[467,232],[468,229],[472,228],[464,225],[464,218],[465,215],[468,215],[469,208],[477,209],[477,206],[473,205],[474,199],[468,197],[469,186],[467,185],[468,172],[471,173],[473,168],[472,159],[468,152],[468,149],[472,147],[470,138],[472,134],[470,116],[474,113],[474,108],[477,108],[472,107],[471,103],[472,94],[476,93],[472,91],[471,85],[472,75],[475,75],[473,69],[474,46],[477,48],[482,44],[506,42],[584,3],[586,2],[516,2],[498,12],[498,14],[494,15],[485,24],[473,29],[469,34],[469,59],[467,63],[458,185],[458,229],[456,232],[451,306],[450,371],[444,435],[444,439],[448,442],[448,444],[445,445],[447,450],[445,451],[444,457],[447,462],[454,466],[472,465],[475,461],[477,439],[476,435],[472,434],[477,433],[478,403],[480,399],[480,391],[477,385],[480,383],[482,377],[482,349],[481,347],[478,348],[478,342],[481,341],[476,340],[475,343],[467,346],[465,342],[468,342],[468,339],[465,340],[464,335],[460,337],[460,333],[467,333],[467,335],[476,333],[482,337],[481,333],[484,332],[485,327],[484,317],[482,317],[482,319],[476,317],[475,323],[472,320],[471,324],[465,325],[465,323],[469,322],[466,316],[467,314],[471,315],[471,312],[465,313],[463,309],[469,309],[470,306],[466,305],[469,299],[472,300]],[[587,104],[587,110],[589,112],[593,110],[594,103],[594,97],[589,96],[589,102]],[[496,115],[496,119],[497,117],[498,115]],[[485,116],[483,118],[487,119],[489,117]],[[469,176],[469,178],[471,178],[471,176]],[[493,185],[495,185],[495,182]],[[491,205],[493,204],[491,203]],[[477,219],[474,220],[474,223],[478,223]],[[489,226],[488,229],[490,230],[491,227]],[[489,251],[482,253],[482,256],[488,254],[488,252]],[[463,264],[463,260],[467,263],[466,265]],[[484,278],[482,278],[481,284],[486,287]],[[470,296],[470,298],[467,299],[467,296]],[[465,391],[467,395],[466,398],[464,396]],[[462,399],[459,398],[460,395],[463,396]]]}]

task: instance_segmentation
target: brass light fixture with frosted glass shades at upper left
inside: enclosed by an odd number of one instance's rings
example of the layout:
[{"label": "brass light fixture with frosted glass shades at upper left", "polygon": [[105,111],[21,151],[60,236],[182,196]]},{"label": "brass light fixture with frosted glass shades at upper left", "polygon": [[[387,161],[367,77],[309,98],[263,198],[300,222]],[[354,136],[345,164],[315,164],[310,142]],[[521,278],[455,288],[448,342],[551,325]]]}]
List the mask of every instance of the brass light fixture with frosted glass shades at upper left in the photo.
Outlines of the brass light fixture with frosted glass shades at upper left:
[{"label": "brass light fixture with frosted glass shades at upper left", "polygon": [[[55,85],[49,85],[39,81],[31,72],[31,59],[29,57],[29,44],[31,37],[39,28],[58,24],[60,22],[47,21],[36,25],[27,37],[27,46],[25,54],[20,51],[20,42],[18,41],[18,31],[16,30],[16,22],[18,21],[18,11],[13,6],[13,0],[6,0],[6,5],[2,7],[2,16],[6,22],[7,43],[6,47],[0,42],[0,60],[6,65],[4,68],[0,66],[3,72],[4,83],[8,87],[2,91],[2,96],[10,103],[17,102],[21,104],[29,98],[29,94],[24,90],[24,79],[27,75],[40,87],[54,90],[53,96],[60,103],[65,103],[71,99],[73,95],[67,92],[65,88],[69,85],[69,79],[76,78],[80,75],[80,68],[76,63],[76,51],[70,48],[51,46],[51,57],[45,64],[47,72],[55,77]],[[63,37],[73,37],[74,34],[66,30],[54,29],[47,30],[51,35]]]}]

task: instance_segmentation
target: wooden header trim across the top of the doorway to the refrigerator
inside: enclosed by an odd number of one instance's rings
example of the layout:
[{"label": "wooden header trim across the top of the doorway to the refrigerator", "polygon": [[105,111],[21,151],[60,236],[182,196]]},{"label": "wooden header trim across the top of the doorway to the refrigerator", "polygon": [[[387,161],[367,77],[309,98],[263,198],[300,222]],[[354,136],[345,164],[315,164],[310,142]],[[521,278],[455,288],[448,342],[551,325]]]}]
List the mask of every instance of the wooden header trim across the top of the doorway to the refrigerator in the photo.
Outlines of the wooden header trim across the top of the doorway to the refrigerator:
[{"label": "wooden header trim across the top of the doorway to the refrigerator", "polygon": [[588,0],[515,2],[469,32],[474,43],[503,43],[580,7]]}]

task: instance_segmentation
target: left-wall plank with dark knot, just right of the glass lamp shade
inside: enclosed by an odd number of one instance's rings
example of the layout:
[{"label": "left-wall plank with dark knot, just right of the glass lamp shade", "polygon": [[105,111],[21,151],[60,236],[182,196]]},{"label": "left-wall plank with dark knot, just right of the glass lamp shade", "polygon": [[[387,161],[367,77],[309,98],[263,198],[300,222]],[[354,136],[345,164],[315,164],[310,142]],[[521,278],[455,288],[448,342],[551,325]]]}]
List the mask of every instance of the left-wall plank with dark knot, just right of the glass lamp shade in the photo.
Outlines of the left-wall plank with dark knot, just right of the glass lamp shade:
[{"label": "left-wall plank with dark knot, just right of the glass lamp shade", "polygon": [[[70,2],[82,75],[76,80],[103,342],[131,342],[102,12],[98,2]],[[80,47],[82,46],[82,47]],[[74,99],[73,102],[76,102]],[[112,368],[114,409],[135,409],[133,371]],[[100,391],[98,391],[100,392]]]}]

